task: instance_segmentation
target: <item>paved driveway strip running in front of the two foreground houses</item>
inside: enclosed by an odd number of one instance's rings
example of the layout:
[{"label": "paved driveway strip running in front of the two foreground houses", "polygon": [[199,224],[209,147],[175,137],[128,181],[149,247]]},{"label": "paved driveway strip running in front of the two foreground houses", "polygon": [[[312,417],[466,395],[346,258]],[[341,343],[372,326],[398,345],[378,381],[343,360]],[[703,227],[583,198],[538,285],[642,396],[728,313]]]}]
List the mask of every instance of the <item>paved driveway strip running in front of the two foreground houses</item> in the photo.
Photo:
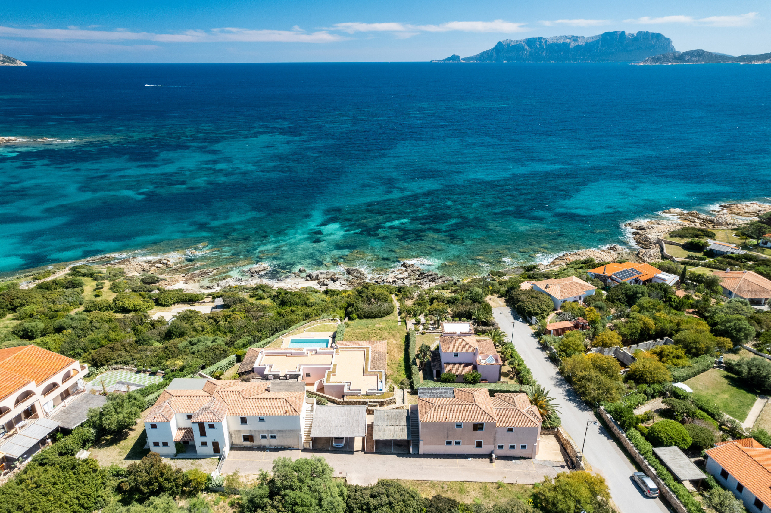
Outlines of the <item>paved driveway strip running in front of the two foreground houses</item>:
[{"label": "paved driveway strip running in front of the two foreground houses", "polygon": [[352,485],[372,485],[379,479],[416,481],[503,481],[532,485],[545,476],[554,477],[565,471],[564,461],[499,458],[490,463],[479,455],[418,455],[381,453],[341,453],[297,449],[231,449],[222,466],[223,474],[236,470],[241,474],[258,474],[273,468],[275,458],[310,458],[322,456],[335,469],[335,476],[348,478]]}]

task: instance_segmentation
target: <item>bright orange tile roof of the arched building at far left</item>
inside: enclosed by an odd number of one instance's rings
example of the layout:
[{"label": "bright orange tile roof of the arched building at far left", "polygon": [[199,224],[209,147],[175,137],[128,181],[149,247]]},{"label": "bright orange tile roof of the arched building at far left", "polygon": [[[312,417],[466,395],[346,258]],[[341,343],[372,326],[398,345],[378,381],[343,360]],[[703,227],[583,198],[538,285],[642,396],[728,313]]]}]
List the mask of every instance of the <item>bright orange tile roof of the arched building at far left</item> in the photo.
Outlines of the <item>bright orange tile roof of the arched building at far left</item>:
[{"label": "bright orange tile roof of the arched building at far left", "polygon": [[30,382],[41,384],[75,362],[72,358],[33,345],[0,349],[0,371],[3,374],[0,400]]}]

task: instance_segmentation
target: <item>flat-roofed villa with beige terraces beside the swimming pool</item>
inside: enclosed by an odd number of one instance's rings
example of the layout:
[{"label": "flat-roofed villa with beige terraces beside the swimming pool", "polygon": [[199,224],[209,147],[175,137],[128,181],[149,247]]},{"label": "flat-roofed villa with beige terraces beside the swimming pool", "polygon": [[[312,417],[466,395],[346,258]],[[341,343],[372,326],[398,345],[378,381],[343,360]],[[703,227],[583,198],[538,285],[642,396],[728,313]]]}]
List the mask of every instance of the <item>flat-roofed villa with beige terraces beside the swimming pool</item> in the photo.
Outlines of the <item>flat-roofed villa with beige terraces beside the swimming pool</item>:
[{"label": "flat-roofed villa with beige terraces beside the swimming pool", "polygon": [[305,381],[308,391],[338,399],[384,392],[385,340],[339,340],[329,346],[308,340],[318,345],[298,347],[304,339],[293,337],[286,347],[251,347],[238,374],[254,372],[255,377],[268,380]]}]

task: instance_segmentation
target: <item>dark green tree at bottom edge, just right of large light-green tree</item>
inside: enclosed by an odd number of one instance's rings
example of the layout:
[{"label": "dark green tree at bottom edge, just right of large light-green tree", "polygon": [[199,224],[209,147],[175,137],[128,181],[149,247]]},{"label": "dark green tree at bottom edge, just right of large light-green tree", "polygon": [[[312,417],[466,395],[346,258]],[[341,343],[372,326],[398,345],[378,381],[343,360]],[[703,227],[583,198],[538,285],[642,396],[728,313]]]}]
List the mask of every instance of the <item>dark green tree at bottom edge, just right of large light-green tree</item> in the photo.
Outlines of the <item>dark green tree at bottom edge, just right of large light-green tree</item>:
[{"label": "dark green tree at bottom edge, just right of large light-green tree", "polygon": [[381,479],[375,485],[348,485],[348,513],[423,513],[426,500],[399,481]]}]

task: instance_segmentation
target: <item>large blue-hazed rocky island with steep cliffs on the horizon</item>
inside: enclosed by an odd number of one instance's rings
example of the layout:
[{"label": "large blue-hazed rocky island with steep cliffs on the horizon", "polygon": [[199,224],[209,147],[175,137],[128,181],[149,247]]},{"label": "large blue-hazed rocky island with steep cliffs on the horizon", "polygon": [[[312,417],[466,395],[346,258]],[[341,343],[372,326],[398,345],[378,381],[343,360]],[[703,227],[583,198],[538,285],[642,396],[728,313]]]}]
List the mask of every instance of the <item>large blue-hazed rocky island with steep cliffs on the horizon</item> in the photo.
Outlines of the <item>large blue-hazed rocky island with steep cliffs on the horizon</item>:
[{"label": "large blue-hazed rocky island with steep cliffs on the horizon", "polygon": [[603,32],[583,37],[559,35],[554,38],[504,39],[489,50],[460,58],[451,55],[431,62],[618,62],[641,61],[675,52],[672,39],[658,32],[636,34]]}]

